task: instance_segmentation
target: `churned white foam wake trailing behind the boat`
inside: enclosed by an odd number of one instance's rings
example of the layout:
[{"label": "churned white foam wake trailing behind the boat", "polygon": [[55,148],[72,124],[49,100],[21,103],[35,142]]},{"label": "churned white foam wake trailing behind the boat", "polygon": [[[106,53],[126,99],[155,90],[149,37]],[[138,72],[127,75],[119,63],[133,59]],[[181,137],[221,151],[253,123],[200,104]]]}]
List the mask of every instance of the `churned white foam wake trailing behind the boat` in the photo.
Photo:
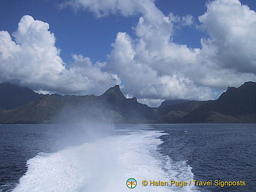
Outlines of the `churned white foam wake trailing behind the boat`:
[{"label": "churned white foam wake trailing behind the boat", "polygon": [[[190,191],[191,187],[144,187],[142,180],[192,180],[191,167],[161,155],[159,131],[137,130],[109,136],[28,160],[17,191]],[[126,186],[136,178],[136,188]]]}]

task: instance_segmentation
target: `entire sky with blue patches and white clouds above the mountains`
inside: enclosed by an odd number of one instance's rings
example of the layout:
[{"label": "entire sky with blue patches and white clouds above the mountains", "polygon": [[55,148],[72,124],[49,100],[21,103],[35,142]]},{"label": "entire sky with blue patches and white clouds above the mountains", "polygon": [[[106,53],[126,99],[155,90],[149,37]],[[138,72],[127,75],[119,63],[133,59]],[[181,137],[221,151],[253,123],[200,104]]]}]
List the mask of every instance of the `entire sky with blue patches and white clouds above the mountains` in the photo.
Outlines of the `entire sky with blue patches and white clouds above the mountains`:
[{"label": "entire sky with blue patches and white clouds above the mountains", "polygon": [[254,0],[2,0],[0,83],[213,100],[256,80]]}]

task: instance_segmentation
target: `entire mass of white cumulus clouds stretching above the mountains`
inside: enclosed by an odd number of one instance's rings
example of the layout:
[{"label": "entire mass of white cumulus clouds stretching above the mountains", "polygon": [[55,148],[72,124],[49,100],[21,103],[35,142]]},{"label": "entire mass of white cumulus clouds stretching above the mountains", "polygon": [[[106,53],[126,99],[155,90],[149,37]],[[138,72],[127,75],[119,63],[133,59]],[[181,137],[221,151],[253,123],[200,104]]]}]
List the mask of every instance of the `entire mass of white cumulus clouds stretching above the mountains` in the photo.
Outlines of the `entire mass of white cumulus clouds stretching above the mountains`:
[{"label": "entire mass of white cumulus clouds stretching above the mountains", "polygon": [[[105,62],[73,55],[65,66],[49,25],[30,16],[13,34],[0,32],[1,81],[16,81],[49,91],[97,94],[121,84],[124,94],[158,105],[162,100],[217,98],[228,86],[256,79],[256,14],[238,0],[215,0],[199,17],[209,37],[201,49],[172,40],[191,15],[164,15],[153,0],[69,0],[62,7],[89,10],[96,17],[110,14],[138,17],[135,36],[117,33]],[[50,52],[48,50],[51,50]]]}]

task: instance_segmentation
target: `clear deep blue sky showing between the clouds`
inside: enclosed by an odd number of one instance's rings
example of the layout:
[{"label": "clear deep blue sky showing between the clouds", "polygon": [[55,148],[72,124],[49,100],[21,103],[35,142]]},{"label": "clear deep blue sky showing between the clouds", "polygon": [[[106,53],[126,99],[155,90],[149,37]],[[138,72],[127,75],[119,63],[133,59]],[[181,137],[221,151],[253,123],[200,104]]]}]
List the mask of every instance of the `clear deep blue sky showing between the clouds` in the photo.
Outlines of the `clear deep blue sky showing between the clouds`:
[{"label": "clear deep blue sky showing between the clouds", "polygon": [[[91,57],[94,62],[105,60],[111,51],[111,43],[116,39],[119,31],[125,31],[133,36],[132,27],[137,24],[140,14],[132,17],[122,15],[108,15],[97,18],[89,11],[75,11],[72,8],[60,8],[63,0],[31,0],[31,1],[1,1],[1,30],[13,33],[23,15],[31,15],[35,20],[41,20],[50,25],[50,31],[57,39],[63,59],[72,62],[71,53],[83,54]],[[196,3],[195,3],[196,2]],[[205,11],[204,1],[156,1],[156,6],[168,14],[191,14],[195,18]],[[65,31],[65,33],[63,33]],[[178,30],[174,38],[177,43],[200,47],[200,37],[205,35],[193,27]],[[99,46],[100,44],[100,46]]]}]

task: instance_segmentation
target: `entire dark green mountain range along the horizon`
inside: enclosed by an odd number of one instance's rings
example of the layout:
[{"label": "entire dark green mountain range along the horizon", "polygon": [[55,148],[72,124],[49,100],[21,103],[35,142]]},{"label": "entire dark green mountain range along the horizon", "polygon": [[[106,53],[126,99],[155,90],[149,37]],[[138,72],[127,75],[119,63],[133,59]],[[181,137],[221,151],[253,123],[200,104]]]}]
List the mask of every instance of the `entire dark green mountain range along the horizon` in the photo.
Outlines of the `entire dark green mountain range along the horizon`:
[{"label": "entire dark green mountain range along the horizon", "polygon": [[0,84],[0,98],[0,123],[256,123],[255,82],[228,88],[214,101],[168,101],[158,108],[127,99],[119,85],[100,96],[63,96]]}]

